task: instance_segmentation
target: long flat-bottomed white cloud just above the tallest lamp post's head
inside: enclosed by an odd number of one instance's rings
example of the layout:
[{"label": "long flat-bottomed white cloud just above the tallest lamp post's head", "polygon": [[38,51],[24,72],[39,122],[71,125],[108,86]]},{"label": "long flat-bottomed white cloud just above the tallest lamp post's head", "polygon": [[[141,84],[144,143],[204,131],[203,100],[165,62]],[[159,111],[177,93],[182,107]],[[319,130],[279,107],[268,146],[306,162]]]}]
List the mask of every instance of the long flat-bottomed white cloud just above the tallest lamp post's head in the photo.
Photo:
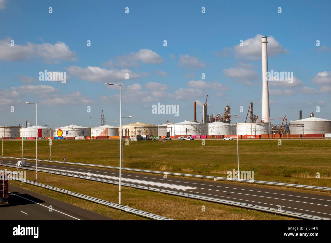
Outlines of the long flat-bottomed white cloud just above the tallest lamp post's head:
[{"label": "long flat-bottomed white cloud just above the tallest lamp post's head", "polygon": [[86,68],[81,68],[78,66],[70,66],[67,68],[68,72],[81,79],[88,82],[112,82],[112,81],[119,81],[125,79],[125,74],[129,74],[129,79],[136,79],[141,76],[146,76],[146,73],[134,73],[129,69],[122,69],[122,70],[107,70],[105,68],[100,67],[92,67],[88,66]]}]

